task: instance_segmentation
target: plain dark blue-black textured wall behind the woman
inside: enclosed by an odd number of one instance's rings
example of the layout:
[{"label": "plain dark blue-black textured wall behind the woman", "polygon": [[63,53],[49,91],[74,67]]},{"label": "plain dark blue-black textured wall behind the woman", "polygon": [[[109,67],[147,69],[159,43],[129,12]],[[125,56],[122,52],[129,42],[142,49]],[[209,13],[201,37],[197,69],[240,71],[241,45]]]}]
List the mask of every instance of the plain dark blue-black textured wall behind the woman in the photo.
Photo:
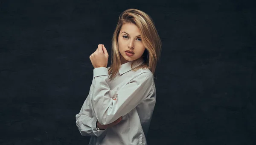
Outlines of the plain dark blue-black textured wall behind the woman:
[{"label": "plain dark blue-black textured wall behind the woman", "polygon": [[111,52],[128,8],[149,14],[163,43],[148,144],[256,145],[253,0],[1,0],[0,144],[88,144],[75,115],[89,56]]}]

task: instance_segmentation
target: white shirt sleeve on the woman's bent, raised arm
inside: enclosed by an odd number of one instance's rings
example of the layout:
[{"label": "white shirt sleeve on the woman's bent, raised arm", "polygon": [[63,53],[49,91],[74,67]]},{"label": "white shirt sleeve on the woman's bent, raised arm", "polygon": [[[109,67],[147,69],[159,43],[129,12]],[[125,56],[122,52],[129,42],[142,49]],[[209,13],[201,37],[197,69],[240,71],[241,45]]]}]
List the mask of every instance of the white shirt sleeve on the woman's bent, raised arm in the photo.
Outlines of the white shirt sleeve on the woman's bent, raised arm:
[{"label": "white shirt sleeve on the woman's bent, raised arm", "polygon": [[95,89],[90,101],[99,123],[103,125],[114,122],[134,109],[150,93],[154,83],[152,73],[143,72],[113,94],[110,93],[108,77],[105,67],[93,70]]}]

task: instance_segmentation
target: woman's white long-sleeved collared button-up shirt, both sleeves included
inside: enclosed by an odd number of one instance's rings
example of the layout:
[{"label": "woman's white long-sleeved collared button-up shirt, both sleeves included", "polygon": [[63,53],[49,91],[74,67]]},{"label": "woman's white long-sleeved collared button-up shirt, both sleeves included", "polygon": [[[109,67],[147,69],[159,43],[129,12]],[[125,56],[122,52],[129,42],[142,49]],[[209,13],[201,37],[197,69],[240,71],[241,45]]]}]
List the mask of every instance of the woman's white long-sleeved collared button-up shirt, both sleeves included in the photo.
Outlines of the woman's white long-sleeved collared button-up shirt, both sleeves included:
[{"label": "woman's white long-sleeved collared button-up shirt, both sleeves included", "polygon": [[[131,70],[129,61],[109,80],[108,69],[93,70],[90,92],[79,112],[76,125],[82,136],[91,136],[89,145],[147,145],[152,113],[156,103],[154,76],[149,69]],[[136,60],[133,67],[143,63]],[[99,131],[96,121],[106,125],[122,116],[111,128]]]}]

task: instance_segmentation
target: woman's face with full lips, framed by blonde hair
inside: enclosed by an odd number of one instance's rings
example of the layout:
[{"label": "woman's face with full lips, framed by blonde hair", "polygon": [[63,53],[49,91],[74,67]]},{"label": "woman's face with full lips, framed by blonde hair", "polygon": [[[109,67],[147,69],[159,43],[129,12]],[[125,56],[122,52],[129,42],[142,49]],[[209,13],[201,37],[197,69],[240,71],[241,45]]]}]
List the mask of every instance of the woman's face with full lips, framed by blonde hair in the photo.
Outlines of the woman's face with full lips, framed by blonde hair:
[{"label": "woman's face with full lips, framed by blonde hair", "polygon": [[122,64],[139,59],[145,46],[141,39],[139,28],[132,23],[124,23],[118,36],[118,49],[122,57]]}]

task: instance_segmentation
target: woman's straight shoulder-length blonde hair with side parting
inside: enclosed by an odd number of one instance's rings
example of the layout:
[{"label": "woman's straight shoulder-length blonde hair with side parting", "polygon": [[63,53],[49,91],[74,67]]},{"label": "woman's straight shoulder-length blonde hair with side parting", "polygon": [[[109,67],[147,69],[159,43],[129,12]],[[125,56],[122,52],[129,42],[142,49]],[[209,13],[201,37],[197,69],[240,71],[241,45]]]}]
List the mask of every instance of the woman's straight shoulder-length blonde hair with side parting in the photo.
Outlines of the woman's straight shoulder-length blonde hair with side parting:
[{"label": "woman's straight shoulder-length blonde hair with side parting", "polygon": [[145,46],[145,51],[142,55],[144,63],[136,68],[132,67],[132,70],[136,71],[140,68],[148,68],[154,74],[157,61],[160,57],[162,43],[151,17],[143,11],[134,8],[127,9],[120,14],[116,29],[113,33],[111,66],[108,70],[109,75],[111,75],[109,79],[114,78],[121,65],[118,36],[122,25],[127,22],[135,24],[139,28],[142,42]]}]

